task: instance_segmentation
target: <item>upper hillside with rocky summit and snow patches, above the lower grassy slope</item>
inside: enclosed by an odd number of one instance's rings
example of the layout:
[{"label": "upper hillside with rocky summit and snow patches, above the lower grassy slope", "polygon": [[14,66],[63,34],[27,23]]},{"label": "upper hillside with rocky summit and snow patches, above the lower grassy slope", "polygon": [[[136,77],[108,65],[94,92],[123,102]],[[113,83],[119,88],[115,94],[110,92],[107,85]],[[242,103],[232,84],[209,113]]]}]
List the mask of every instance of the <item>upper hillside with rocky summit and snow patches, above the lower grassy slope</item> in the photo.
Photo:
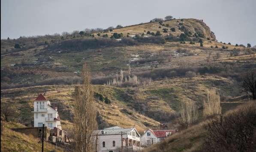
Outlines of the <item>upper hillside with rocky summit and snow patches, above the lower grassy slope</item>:
[{"label": "upper hillside with rocky summit and snow patches, above the lower grassy slope", "polygon": [[[180,23],[182,25],[179,25]],[[168,30],[168,33],[163,33],[163,24],[165,26],[169,24],[168,29],[175,28],[175,32]],[[161,28],[158,28],[159,26]],[[185,30],[181,29],[182,26]],[[130,38],[122,38],[120,42],[109,38],[113,35],[111,33],[123,33],[123,37],[126,37],[126,33],[141,35],[147,29],[151,32],[159,30],[162,36],[145,33],[143,37],[132,39],[130,36]],[[132,73],[137,75],[138,72],[148,72],[152,69],[205,65],[206,61],[215,64],[213,57],[217,54],[220,58],[227,57],[234,48],[238,49],[238,54],[252,54],[255,51],[214,41],[215,36],[209,27],[196,19],[134,25],[114,29],[111,33],[108,31],[108,38],[102,37],[105,34],[102,31],[101,36],[94,34],[94,38],[90,36],[92,34],[63,33],[62,36],[2,39],[1,89],[73,84],[79,81],[79,72],[84,62],[91,65],[95,79],[93,83],[103,84],[120,69],[128,71],[127,65],[130,65]],[[181,36],[182,33],[186,33],[185,36]],[[203,47],[200,47],[199,39],[202,39]],[[181,44],[181,40],[186,44]],[[190,44],[190,41],[193,44]],[[13,48],[15,44],[21,45],[21,48]],[[218,48],[215,48],[216,46]],[[251,63],[243,64],[251,66]],[[239,66],[244,65],[239,64]]]}]

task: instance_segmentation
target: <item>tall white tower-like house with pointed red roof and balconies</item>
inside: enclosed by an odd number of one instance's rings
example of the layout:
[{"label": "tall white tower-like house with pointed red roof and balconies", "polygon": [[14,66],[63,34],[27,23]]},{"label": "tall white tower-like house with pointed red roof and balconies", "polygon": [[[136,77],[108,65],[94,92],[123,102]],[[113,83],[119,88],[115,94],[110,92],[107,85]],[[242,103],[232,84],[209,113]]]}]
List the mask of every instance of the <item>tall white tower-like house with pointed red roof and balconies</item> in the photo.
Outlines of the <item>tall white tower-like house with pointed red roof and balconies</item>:
[{"label": "tall white tower-like house with pointed red roof and balconies", "polygon": [[34,101],[34,108],[31,109],[31,112],[34,115],[34,127],[42,127],[45,124],[51,129],[62,130],[57,107],[51,106],[51,102],[46,100],[42,94]]}]

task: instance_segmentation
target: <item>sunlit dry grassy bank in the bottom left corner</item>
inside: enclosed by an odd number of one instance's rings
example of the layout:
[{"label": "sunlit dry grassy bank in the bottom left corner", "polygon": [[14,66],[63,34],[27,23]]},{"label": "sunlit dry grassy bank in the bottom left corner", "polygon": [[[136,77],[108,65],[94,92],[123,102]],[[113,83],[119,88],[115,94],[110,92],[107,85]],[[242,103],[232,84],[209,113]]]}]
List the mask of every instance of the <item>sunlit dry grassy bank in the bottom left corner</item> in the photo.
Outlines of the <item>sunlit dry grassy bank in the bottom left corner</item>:
[{"label": "sunlit dry grassy bank in the bottom left corner", "polygon": [[[25,127],[24,125],[12,122],[1,122],[4,125],[3,133],[1,134],[1,152],[40,152],[42,151],[42,143],[38,138],[27,136],[10,128]],[[63,149],[56,148],[53,144],[44,142],[44,151],[62,152]]]}]

